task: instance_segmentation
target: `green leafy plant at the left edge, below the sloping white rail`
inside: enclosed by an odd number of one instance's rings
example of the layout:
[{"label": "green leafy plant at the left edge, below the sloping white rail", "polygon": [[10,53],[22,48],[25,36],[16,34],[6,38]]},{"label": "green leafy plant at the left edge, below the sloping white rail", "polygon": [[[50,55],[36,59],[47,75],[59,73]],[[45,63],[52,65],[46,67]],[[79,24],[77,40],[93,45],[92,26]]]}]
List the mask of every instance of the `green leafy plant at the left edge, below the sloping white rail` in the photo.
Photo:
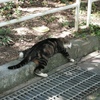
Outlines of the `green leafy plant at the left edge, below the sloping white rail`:
[{"label": "green leafy plant at the left edge, below the sloping white rail", "polygon": [[9,45],[14,43],[11,37],[9,36],[10,33],[10,29],[0,29],[0,45]]}]

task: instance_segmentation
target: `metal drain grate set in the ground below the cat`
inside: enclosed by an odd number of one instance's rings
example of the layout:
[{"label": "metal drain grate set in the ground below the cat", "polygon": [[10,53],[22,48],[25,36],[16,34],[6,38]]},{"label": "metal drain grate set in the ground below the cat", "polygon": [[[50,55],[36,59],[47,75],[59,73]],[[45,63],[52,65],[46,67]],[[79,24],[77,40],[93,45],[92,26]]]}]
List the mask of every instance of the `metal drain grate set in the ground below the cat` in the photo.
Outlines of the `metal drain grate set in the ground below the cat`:
[{"label": "metal drain grate set in the ground below the cat", "polygon": [[82,100],[100,88],[100,75],[69,66],[0,100]]}]

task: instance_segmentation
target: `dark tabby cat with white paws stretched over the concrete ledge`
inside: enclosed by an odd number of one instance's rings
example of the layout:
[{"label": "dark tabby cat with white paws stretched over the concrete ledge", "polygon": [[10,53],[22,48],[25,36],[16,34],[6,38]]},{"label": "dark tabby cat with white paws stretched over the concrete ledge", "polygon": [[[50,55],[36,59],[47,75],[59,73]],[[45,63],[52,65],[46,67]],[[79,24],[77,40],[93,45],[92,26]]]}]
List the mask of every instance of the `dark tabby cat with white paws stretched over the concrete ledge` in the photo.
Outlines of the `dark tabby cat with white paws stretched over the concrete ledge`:
[{"label": "dark tabby cat with white paws stretched over the concrete ledge", "polygon": [[69,39],[47,38],[21,52],[20,57],[23,57],[23,60],[16,65],[9,66],[8,69],[17,69],[33,61],[36,64],[34,73],[38,76],[47,77],[48,74],[43,73],[42,70],[47,65],[48,59],[54,54],[61,53],[68,61],[74,62],[74,59],[71,59],[66,51],[66,48],[71,48],[71,45]]}]

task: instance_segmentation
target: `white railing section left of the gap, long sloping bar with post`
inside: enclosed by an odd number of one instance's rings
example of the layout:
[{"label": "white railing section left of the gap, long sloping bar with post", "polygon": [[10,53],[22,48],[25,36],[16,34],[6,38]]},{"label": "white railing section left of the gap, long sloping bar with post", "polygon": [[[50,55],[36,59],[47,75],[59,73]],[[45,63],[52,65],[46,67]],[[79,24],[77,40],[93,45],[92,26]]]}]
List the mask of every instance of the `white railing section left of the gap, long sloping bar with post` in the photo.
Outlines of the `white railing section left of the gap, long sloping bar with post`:
[{"label": "white railing section left of the gap, long sloping bar with post", "polygon": [[[13,1],[13,0],[2,0],[2,1],[0,1],[0,3],[9,2],[9,1]],[[32,19],[32,18],[44,16],[44,15],[47,15],[47,14],[56,13],[58,11],[62,11],[62,10],[70,9],[70,8],[75,8],[75,7],[76,7],[76,10],[75,10],[75,30],[77,31],[78,30],[78,23],[79,23],[80,0],[76,0],[75,3],[73,3],[71,5],[64,6],[64,7],[53,8],[53,9],[47,10],[45,12],[30,14],[28,16],[23,16],[23,17],[20,17],[18,19],[13,19],[13,20],[9,20],[9,21],[6,21],[6,22],[1,22],[0,27],[6,26],[6,25],[9,25],[9,24],[18,23],[18,22],[25,21],[25,20],[29,20],[29,19]]]}]

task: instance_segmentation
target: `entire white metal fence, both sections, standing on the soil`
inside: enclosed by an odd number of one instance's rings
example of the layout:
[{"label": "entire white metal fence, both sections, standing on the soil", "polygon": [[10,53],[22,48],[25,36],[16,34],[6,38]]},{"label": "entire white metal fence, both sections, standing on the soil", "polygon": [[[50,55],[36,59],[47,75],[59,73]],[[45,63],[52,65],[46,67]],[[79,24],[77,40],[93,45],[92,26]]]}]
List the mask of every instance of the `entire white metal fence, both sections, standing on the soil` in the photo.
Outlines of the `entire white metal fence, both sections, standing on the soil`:
[{"label": "entire white metal fence, both sections, standing on the soil", "polygon": [[[0,3],[9,2],[9,1],[13,1],[13,0],[1,0]],[[87,25],[86,25],[87,27],[89,27],[89,24],[90,24],[92,3],[95,2],[95,1],[99,1],[99,0],[88,0]],[[56,13],[58,11],[62,11],[62,10],[70,9],[70,8],[76,8],[76,10],[75,10],[75,30],[77,31],[78,30],[78,24],[79,24],[80,0],[76,0],[76,2],[74,4],[71,4],[71,5],[68,5],[68,6],[53,8],[53,9],[47,10],[45,12],[31,14],[31,15],[28,15],[28,16],[20,17],[18,19],[13,19],[13,20],[9,20],[9,21],[6,21],[6,22],[1,22],[0,27],[6,26],[6,25],[9,25],[9,24],[18,23],[18,22],[25,21],[25,20],[29,20],[29,19],[32,19],[32,18],[44,16],[44,15],[47,15],[47,14]]]}]

